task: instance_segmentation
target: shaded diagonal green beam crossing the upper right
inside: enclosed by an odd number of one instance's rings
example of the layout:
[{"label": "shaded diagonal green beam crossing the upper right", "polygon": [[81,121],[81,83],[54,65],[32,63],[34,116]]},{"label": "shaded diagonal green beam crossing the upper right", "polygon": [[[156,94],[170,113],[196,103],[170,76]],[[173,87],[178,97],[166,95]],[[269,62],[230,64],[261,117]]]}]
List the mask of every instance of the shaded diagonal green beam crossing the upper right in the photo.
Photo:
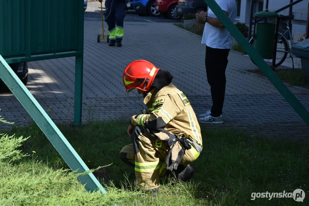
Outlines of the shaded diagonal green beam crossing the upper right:
[{"label": "shaded diagonal green beam crossing the upper right", "polygon": [[240,46],[247,52],[254,63],[262,70],[269,81],[276,87],[286,101],[293,107],[298,115],[309,125],[309,112],[298,101],[293,93],[287,88],[287,86],[281,81],[281,79],[273,72],[273,70],[266,64],[263,58],[257,53],[257,51],[251,46],[248,40],[238,30],[235,24],[228,18],[228,16],[222,11],[220,6],[214,0],[204,0],[209,6],[211,11],[218,17],[226,29],[231,33]]}]

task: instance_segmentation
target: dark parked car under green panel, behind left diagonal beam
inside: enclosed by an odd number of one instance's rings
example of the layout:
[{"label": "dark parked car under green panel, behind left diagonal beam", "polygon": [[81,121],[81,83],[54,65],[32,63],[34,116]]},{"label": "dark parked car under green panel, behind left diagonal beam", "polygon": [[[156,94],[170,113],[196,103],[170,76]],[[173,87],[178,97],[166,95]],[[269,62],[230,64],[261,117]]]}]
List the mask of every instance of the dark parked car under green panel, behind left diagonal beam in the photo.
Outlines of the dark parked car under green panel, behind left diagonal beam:
[{"label": "dark parked car under green panel, behind left diagonal beam", "polygon": [[[15,72],[18,78],[23,82],[26,86],[28,83],[28,63],[20,62],[20,63],[12,63],[9,64],[11,69]],[[0,79],[0,92],[9,92],[10,90],[6,87],[5,83]]]}]

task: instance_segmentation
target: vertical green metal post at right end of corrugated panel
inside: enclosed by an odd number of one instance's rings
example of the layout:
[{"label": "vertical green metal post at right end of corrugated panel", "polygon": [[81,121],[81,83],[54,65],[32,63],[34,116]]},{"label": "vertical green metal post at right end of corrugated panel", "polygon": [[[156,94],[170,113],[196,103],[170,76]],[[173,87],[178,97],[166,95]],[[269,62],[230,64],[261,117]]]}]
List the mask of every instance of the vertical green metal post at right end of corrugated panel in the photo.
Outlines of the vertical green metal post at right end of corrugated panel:
[{"label": "vertical green metal post at right end of corrugated panel", "polygon": [[[78,15],[82,15],[84,19],[84,2],[80,0],[79,3]],[[82,124],[84,21],[79,22],[78,29],[78,50],[82,55],[75,57],[74,125]]]}]

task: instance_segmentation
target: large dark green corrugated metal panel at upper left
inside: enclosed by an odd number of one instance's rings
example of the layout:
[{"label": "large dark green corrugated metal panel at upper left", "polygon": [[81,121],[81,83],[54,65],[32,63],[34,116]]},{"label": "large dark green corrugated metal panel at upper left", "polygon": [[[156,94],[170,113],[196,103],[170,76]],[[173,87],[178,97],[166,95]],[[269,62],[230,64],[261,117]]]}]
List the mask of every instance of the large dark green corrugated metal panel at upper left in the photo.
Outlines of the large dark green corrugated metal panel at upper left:
[{"label": "large dark green corrugated metal panel at upper left", "polygon": [[83,32],[83,4],[0,0],[0,54],[7,63],[82,55],[83,40],[78,37]]}]

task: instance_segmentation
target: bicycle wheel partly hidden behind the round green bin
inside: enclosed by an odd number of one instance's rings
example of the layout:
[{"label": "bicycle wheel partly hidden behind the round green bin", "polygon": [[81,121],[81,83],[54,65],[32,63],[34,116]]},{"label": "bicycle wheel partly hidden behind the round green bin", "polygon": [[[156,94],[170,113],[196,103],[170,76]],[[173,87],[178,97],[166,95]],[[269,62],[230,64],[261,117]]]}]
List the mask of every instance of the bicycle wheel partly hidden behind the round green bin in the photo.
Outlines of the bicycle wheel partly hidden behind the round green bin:
[{"label": "bicycle wheel partly hidden behind the round green bin", "polygon": [[[251,37],[251,39],[249,40],[249,43],[253,46],[254,42],[255,42],[255,40],[253,39],[253,37]],[[290,49],[290,47],[289,47],[288,41],[286,40],[286,38],[284,36],[281,36],[280,39],[277,40],[277,53],[276,53],[275,68],[280,66],[286,60],[286,57],[289,53],[289,49]],[[251,59],[251,61],[252,61],[252,59]],[[273,67],[273,60],[272,59],[264,59],[264,61],[270,67]]]}]

